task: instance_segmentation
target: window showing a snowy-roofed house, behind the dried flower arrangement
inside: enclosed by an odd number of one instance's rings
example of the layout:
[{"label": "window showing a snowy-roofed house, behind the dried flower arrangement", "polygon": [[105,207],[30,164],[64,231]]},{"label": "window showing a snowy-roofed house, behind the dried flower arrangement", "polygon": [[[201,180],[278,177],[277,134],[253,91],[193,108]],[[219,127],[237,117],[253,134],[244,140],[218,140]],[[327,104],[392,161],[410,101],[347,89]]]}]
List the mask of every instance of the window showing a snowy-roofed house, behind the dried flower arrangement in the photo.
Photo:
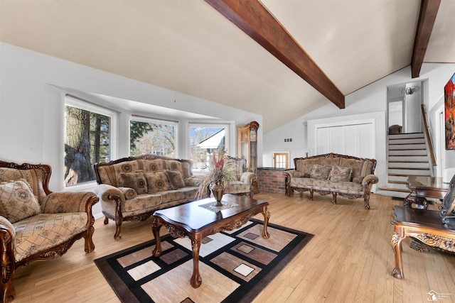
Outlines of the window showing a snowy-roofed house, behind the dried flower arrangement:
[{"label": "window showing a snowy-roofed house, behind the dried flower arrangement", "polygon": [[190,125],[190,157],[193,160],[193,172],[207,169],[213,150],[220,146],[225,145],[229,153],[228,130],[229,126],[225,124]]}]

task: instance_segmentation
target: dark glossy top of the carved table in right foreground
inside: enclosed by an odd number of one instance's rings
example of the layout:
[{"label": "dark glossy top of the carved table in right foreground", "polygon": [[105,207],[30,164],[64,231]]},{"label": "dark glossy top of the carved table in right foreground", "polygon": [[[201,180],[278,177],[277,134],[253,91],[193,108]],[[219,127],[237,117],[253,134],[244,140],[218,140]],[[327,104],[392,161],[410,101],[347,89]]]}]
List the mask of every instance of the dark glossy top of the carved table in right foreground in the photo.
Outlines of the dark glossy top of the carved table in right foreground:
[{"label": "dark glossy top of the carved table in right foreground", "polygon": [[406,206],[393,206],[394,219],[393,225],[400,226],[427,226],[444,230],[455,235],[454,224],[443,224],[441,221],[441,212],[425,209],[412,209]]}]

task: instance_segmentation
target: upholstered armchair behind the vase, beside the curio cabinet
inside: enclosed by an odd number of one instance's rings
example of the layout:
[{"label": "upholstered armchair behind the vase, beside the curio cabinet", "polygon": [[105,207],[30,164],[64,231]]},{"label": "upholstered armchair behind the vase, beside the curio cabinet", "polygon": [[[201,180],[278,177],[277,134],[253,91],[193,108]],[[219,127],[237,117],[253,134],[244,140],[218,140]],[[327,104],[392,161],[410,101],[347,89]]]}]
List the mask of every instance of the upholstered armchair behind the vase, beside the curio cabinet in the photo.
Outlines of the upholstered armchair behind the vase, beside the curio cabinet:
[{"label": "upholstered armchair behind the vase, beside the curio cabinet", "polygon": [[235,181],[229,182],[225,187],[225,194],[249,195],[253,197],[253,182],[257,181],[257,175],[254,172],[247,172],[247,160],[229,157],[225,160],[225,165],[234,162]]}]

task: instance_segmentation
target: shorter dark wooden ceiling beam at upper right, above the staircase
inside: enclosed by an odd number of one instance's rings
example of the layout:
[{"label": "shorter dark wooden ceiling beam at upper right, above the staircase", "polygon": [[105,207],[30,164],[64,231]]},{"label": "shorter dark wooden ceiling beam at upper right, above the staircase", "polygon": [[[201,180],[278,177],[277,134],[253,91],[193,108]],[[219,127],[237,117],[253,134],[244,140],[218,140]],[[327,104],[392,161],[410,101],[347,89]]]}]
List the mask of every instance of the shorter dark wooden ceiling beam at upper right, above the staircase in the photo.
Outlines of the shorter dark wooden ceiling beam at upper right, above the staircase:
[{"label": "shorter dark wooden ceiling beam at upper right, above the staircase", "polygon": [[417,23],[417,31],[414,39],[414,50],[412,51],[412,78],[417,78],[420,75],[420,69],[422,68],[425,53],[427,52],[429,37],[432,35],[439,4],[441,4],[441,0],[422,0],[419,22]]}]

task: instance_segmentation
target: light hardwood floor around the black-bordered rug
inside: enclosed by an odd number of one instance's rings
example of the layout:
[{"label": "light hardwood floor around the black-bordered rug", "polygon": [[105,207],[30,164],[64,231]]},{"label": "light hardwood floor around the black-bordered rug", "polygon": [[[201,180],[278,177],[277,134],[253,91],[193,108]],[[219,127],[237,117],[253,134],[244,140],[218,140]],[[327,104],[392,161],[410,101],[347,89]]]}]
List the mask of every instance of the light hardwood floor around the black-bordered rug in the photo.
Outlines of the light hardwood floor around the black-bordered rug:
[{"label": "light hardwood floor around the black-bordered rug", "polygon": [[[403,241],[404,280],[392,277],[395,256],[390,245],[392,206],[399,200],[372,194],[363,200],[331,195],[255,194],[270,206],[270,223],[313,233],[314,238],[270,282],[255,302],[427,302],[434,290],[455,302],[455,255],[432,250],[419,253]],[[431,206],[435,208],[435,206]],[[257,219],[261,218],[259,214]],[[35,262],[16,270],[14,302],[119,302],[93,262],[151,239],[151,221],[124,223],[114,241],[114,224],[95,222],[95,251],[86,254],[77,241],[62,258]],[[166,232],[165,228],[161,231]],[[198,302],[199,303],[199,302]]]}]

